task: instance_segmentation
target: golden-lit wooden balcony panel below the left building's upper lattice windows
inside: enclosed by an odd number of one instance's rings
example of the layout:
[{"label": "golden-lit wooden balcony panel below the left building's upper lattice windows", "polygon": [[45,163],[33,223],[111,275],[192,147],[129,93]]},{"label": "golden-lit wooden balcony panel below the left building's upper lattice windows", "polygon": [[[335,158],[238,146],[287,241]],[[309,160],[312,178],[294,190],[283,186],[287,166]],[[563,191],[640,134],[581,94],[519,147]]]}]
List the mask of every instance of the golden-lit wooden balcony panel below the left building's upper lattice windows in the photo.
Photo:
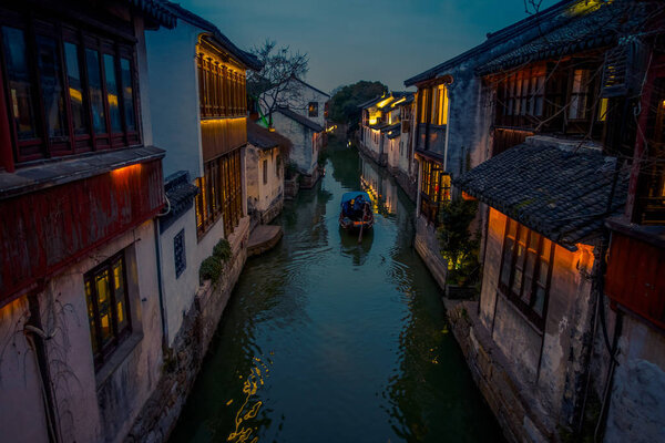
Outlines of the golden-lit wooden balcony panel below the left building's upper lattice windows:
[{"label": "golden-lit wooden balcony panel below the left building's upper lattice windows", "polygon": [[245,145],[247,143],[247,117],[202,120],[201,143],[204,162]]}]

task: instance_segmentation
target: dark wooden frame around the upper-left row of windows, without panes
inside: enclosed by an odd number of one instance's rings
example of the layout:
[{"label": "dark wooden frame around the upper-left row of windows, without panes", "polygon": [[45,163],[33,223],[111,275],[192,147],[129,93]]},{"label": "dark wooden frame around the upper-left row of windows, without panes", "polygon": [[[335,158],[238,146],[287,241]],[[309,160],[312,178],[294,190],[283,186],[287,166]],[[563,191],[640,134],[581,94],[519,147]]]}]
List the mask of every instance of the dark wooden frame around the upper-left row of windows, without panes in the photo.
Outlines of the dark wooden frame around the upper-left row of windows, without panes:
[{"label": "dark wooden frame around the upper-left row of windows, without panes", "polygon": [[[2,10],[3,12],[8,12]],[[50,19],[48,21],[41,19],[28,18],[28,14],[8,12],[6,17],[0,19],[0,27],[19,29],[25,37],[28,70],[30,73],[30,84],[33,86],[33,96],[31,104],[33,106],[33,121],[37,132],[37,137],[31,140],[18,138],[18,130],[11,109],[8,110],[10,117],[9,126],[11,132],[11,143],[13,151],[13,162],[17,166],[21,166],[28,162],[42,161],[52,157],[62,157],[68,155],[81,154],[90,151],[101,151],[108,148],[127,147],[141,144],[141,120],[139,115],[140,94],[136,81],[136,63],[135,63],[135,43],[121,41],[115,37],[94,34],[89,31],[83,31],[66,21]],[[63,122],[64,133],[62,141],[52,141],[48,134],[45,122],[44,99],[41,93],[41,79],[37,66],[37,35],[43,35],[52,39],[57,45],[59,74],[62,86],[63,100]],[[64,52],[64,43],[72,43],[76,48],[76,61],[79,68],[79,76],[81,79],[82,90],[82,106],[84,110],[85,124],[88,131],[85,134],[75,134],[73,127],[72,99],[70,94],[69,72],[66,65],[66,55]],[[0,35],[0,70],[7,71],[4,60],[2,35]],[[92,123],[92,104],[90,101],[90,78],[88,65],[85,62],[85,49],[95,50],[99,53],[100,62],[100,82],[102,102],[104,105],[106,133],[95,133]],[[119,112],[121,119],[121,133],[110,133],[110,115],[106,91],[106,79],[103,69],[104,54],[112,54],[114,60],[114,72],[116,76],[116,86],[119,90]],[[121,60],[127,59],[130,62],[130,72],[132,81],[132,101],[134,113],[134,131],[129,131],[126,127],[125,106],[123,91],[123,79],[121,70]],[[3,75],[7,80],[7,76]],[[6,96],[9,96],[9,84],[4,81],[2,84]],[[2,104],[6,105],[6,104]]]}]

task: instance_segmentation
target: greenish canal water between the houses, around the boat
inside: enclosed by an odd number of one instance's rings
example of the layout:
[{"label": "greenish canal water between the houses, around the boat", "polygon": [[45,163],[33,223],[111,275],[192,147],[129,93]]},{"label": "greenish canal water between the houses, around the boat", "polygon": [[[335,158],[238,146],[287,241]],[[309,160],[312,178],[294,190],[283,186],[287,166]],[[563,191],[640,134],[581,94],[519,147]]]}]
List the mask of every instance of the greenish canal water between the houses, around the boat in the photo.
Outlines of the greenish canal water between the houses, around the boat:
[{"label": "greenish canal water between the houses, around the boat", "polygon": [[[332,140],[326,176],[247,261],[172,442],[500,442],[412,247],[413,204]],[[374,231],[338,227],[342,193]]]}]

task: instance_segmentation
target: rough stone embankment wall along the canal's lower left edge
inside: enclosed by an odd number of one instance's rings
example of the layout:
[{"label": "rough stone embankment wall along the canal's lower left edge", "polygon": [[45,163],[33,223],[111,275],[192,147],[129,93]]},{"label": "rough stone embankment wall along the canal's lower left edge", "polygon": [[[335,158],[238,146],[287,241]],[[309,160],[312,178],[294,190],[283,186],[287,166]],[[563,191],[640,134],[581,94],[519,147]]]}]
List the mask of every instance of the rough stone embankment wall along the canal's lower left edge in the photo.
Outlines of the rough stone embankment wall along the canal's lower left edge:
[{"label": "rough stone embankment wall along the canal's lower left edge", "polygon": [[249,217],[229,236],[233,258],[217,282],[205,281],[185,315],[173,346],[164,351],[162,375],[125,442],[164,442],[194,385],[209,342],[247,259]]}]

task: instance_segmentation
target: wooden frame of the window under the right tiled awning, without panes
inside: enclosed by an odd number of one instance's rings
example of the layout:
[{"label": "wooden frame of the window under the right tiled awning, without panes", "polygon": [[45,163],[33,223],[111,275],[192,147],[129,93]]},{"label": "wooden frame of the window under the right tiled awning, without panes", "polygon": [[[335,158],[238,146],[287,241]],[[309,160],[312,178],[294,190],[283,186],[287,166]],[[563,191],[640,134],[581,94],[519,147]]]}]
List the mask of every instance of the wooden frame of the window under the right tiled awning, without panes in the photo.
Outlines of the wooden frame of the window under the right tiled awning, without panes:
[{"label": "wooden frame of the window under the right tiled awning, without panes", "polygon": [[[554,250],[556,249],[556,244],[548,238],[545,238],[544,236],[535,233],[532,229],[529,229],[528,227],[525,227],[524,225],[520,224],[519,222],[510,218],[510,217],[505,217],[505,230],[503,234],[503,245],[501,248],[501,267],[499,269],[499,282],[498,282],[498,288],[500,290],[500,292],[508,298],[510,301],[512,301],[512,303],[529,319],[529,321],[531,321],[539,331],[543,331],[544,330],[544,326],[545,326],[545,319],[548,317],[548,305],[550,301],[550,289],[551,289],[551,282],[552,282],[552,270],[554,267]],[[515,224],[515,237],[511,238],[510,237],[510,226],[511,224]],[[520,235],[523,230],[526,230],[526,238],[525,238],[525,246],[526,249],[524,251],[523,255],[523,259],[522,259],[522,264],[521,264],[521,269],[520,269],[520,264],[516,262],[519,255],[516,254],[516,248],[519,246],[519,239],[520,239]],[[526,268],[526,260],[529,257],[529,246],[531,245],[531,237],[532,236],[536,236],[536,249],[533,249],[535,254],[535,258],[534,258],[534,264],[533,264],[533,270],[532,270],[532,275],[531,275],[531,286],[529,288],[526,288],[530,292],[528,295],[524,293],[524,289],[525,289],[525,279],[526,279],[526,272],[524,272],[524,269]],[[511,245],[511,250],[508,250],[508,244],[509,244],[509,238],[512,241]],[[550,251],[549,251],[549,257],[548,259],[543,259],[542,253],[544,249],[545,244],[549,243],[549,247],[550,247]],[[507,262],[507,258],[509,258],[508,262]],[[534,305],[536,301],[536,297],[535,297],[535,288],[536,286],[539,286],[539,278],[540,278],[540,272],[541,272],[541,268],[542,268],[542,262],[546,261],[548,266],[548,276],[545,279],[545,285],[541,286],[541,288],[544,291],[544,299],[543,299],[543,307],[542,307],[542,313],[539,313],[536,310],[534,310]],[[503,272],[507,270],[505,267],[510,267],[510,269],[508,270],[509,274],[509,281],[508,285],[505,285],[502,279],[503,279]],[[516,275],[516,270],[520,270],[521,272],[521,279],[520,279],[520,292],[516,293],[514,291],[514,278]]]}]

